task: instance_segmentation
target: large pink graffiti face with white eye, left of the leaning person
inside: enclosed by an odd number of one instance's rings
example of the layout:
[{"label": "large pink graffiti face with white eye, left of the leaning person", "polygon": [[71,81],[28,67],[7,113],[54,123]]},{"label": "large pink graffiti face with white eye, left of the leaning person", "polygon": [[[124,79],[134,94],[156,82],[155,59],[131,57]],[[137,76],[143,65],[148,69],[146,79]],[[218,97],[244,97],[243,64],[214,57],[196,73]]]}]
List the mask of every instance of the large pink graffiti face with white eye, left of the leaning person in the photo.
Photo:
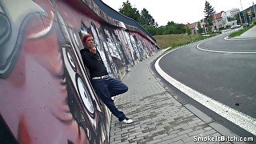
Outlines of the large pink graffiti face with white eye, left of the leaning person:
[{"label": "large pink graffiti face with white eye, left of the leaning person", "polygon": [[47,1],[25,1],[24,7],[32,9],[21,10],[15,20],[15,12],[8,9],[13,3],[4,2],[0,112],[14,138],[50,143],[58,134],[57,143],[108,142],[106,109],[83,73],[78,58],[81,41],[67,28],[65,11]]}]

